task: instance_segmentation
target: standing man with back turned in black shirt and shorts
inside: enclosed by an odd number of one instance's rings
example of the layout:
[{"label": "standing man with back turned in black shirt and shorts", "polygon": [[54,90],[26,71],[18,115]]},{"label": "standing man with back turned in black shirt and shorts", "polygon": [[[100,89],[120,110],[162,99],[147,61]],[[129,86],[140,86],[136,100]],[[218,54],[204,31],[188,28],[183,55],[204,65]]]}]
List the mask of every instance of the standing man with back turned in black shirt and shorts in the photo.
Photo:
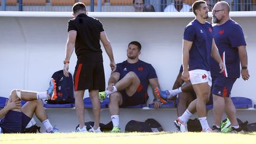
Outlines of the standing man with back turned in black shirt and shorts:
[{"label": "standing man with back turned in black shirt and shorts", "polygon": [[89,17],[87,8],[82,2],[73,5],[75,18],[68,22],[68,41],[66,43],[66,58],[63,72],[68,76],[69,60],[75,47],[78,58],[74,73],[75,108],[78,116],[79,127],[76,132],[87,132],[84,125],[84,91],[89,89],[94,114],[94,127],[89,132],[101,132],[100,100],[98,92],[105,90],[105,75],[103,68],[103,55],[100,40],[110,58],[111,69],[116,69],[112,47],[103,25],[96,18]]}]

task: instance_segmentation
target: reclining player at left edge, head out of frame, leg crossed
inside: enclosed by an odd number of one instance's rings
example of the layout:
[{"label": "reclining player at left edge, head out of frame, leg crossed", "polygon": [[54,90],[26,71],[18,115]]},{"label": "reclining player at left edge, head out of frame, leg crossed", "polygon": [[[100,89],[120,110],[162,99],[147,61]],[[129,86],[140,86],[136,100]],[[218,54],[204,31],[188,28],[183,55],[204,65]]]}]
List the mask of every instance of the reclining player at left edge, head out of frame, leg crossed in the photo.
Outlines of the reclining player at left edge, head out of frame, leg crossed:
[{"label": "reclining player at left edge, head out of frame, leg crossed", "polygon": [[[53,97],[56,97],[56,85],[53,79],[46,92],[12,90],[5,107],[0,110],[0,133],[24,133],[34,114],[43,123],[47,133],[59,132],[50,124],[41,101],[41,99],[53,100]],[[23,107],[21,100],[27,101]]]}]

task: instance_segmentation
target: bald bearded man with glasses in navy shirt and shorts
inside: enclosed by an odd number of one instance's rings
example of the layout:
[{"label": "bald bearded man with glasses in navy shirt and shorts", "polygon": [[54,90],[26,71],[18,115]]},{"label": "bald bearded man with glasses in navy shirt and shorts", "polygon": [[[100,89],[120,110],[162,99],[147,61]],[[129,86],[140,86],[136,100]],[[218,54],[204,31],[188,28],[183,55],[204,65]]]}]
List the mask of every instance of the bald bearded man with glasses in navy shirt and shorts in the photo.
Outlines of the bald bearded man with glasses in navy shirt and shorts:
[{"label": "bald bearded man with glasses in navy shirt and shorts", "polygon": [[[231,121],[232,132],[242,132],[236,120],[236,110],[231,100],[231,89],[236,79],[240,77],[246,81],[249,79],[247,50],[244,33],[241,26],[229,17],[229,4],[217,2],[213,8],[213,37],[219,54],[225,64],[225,71],[216,71],[217,63],[212,60],[211,74],[215,77],[213,81],[213,113],[215,121],[213,130],[220,130],[220,121],[225,112]],[[242,69],[240,69],[240,63]]]}]

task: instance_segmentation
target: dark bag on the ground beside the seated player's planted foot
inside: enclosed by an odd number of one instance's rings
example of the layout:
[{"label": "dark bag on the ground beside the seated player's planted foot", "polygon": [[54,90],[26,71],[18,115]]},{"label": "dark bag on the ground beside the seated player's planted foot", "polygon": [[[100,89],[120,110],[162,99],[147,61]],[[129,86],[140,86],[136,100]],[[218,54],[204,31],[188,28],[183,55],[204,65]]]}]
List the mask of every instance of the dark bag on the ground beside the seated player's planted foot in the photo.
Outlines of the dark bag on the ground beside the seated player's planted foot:
[{"label": "dark bag on the ground beside the seated player's planted foot", "polygon": [[125,127],[125,132],[162,132],[162,126],[155,119],[147,119],[145,122],[130,120]]}]

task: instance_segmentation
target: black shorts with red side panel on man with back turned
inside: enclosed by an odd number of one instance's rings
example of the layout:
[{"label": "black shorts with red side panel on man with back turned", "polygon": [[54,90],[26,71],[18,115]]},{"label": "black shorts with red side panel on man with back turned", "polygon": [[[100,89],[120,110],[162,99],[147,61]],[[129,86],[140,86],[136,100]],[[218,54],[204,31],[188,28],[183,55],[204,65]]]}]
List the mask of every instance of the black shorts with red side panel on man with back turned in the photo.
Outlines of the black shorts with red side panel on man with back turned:
[{"label": "black shorts with red side panel on man with back turned", "polygon": [[103,62],[81,62],[78,60],[73,75],[74,89],[105,91]]}]

